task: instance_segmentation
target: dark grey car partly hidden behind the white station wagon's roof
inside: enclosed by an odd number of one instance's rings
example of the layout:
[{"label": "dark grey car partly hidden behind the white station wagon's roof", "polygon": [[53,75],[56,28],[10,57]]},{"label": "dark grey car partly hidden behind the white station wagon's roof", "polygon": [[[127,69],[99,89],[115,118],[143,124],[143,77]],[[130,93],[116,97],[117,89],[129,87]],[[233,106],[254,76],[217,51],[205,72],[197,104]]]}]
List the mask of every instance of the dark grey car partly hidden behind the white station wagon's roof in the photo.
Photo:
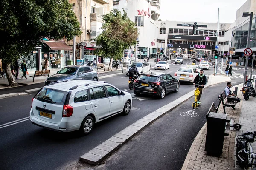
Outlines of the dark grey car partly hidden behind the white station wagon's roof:
[{"label": "dark grey car partly hidden behind the white station wagon's roof", "polygon": [[86,80],[98,81],[98,73],[93,68],[87,65],[69,65],[61,68],[56,74],[48,77],[44,85],[57,82],[60,80],[82,78]]}]

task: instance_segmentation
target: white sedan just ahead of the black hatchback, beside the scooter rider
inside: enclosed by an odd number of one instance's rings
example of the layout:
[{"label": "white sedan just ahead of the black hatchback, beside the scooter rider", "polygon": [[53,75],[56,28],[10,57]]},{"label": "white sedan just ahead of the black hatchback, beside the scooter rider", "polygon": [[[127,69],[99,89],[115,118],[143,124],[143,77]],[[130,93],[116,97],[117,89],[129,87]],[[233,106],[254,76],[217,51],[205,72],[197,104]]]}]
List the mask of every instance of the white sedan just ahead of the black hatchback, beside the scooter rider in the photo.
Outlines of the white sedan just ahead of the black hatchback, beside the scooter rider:
[{"label": "white sedan just ahead of the black hatchback, beside the scooter rider", "polygon": [[196,68],[180,67],[177,72],[175,72],[174,78],[179,81],[193,83],[196,75],[198,75]]}]

